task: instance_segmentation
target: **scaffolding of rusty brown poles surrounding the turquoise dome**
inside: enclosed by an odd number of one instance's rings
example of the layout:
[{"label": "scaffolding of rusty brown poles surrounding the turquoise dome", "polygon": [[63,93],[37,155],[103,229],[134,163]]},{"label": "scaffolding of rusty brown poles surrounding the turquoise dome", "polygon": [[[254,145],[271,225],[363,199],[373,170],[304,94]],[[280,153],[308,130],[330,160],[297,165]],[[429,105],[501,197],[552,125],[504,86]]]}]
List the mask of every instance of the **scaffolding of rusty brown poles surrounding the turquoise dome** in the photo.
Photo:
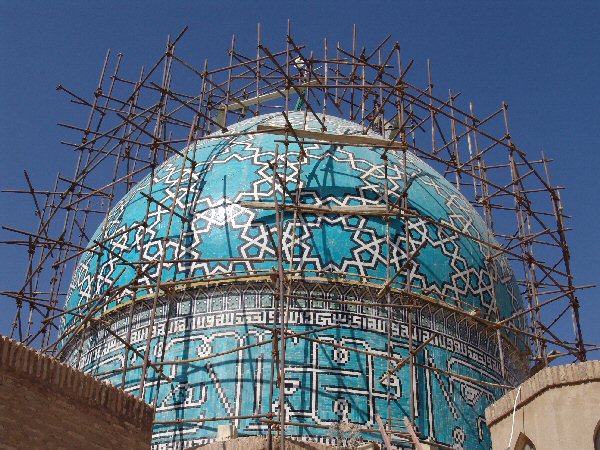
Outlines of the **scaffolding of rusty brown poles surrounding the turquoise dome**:
[{"label": "scaffolding of rusty brown poles surrounding the turquoise dome", "polygon": [[[387,277],[378,280],[380,289],[371,299],[373,305],[390,311],[398,307],[412,311],[423,304],[451,309],[495,333],[501,352],[503,345],[505,351],[509,351],[507,342],[510,339],[507,336],[516,336],[518,341],[526,343],[531,348],[529,358],[533,370],[548,365],[557,357],[579,361],[586,359],[586,352],[594,347],[583,340],[577,294],[590,286],[576,285],[571,273],[571,255],[567,243],[569,229],[566,225],[568,216],[563,211],[560,195],[562,188],[551,184],[549,159],[543,154],[532,159],[513,142],[508,106],[505,103],[483,118],[478,118],[473,104],[465,105],[461,102],[459,93],[450,91],[446,95],[434,91],[429,62],[427,79],[424,85],[419,85],[411,81],[413,61],[402,60],[398,42],[392,42],[388,36],[373,49],[361,48],[357,44],[356,27],[348,48],[339,42],[332,46],[325,39],[322,50],[315,52],[296,42],[289,23],[284,48],[272,50],[263,43],[259,25],[257,44],[253,49],[255,53],[242,54],[233,37],[227,55],[229,62],[219,68],[209,68],[208,61],[204,61],[201,67],[196,67],[178,55],[176,49],[182,45],[186,30],[187,28],[174,39],[169,37],[158,60],[149,69],[142,68],[136,79],[128,79],[122,75],[123,55],[118,54],[115,58],[109,51],[97,88],[91,97],[86,99],[65,86],[57,87],[77,107],[87,110],[88,117],[84,125],[60,124],[69,132],[81,136],[79,139],[63,142],[77,155],[72,176],[57,175],[54,186],[49,190],[42,190],[34,187],[29,174],[25,172],[25,189],[4,191],[31,197],[35,214],[39,218],[33,231],[3,227],[6,234],[11,235],[11,239],[2,242],[22,246],[28,252],[23,282],[15,290],[1,293],[16,302],[11,337],[49,354],[58,354],[60,348],[68,345],[86,324],[96,320],[95,314],[103,310],[112,296],[118,295],[119,290],[129,288],[133,291],[132,305],[136,301],[136,292],[146,289],[152,293],[150,299],[146,299],[152,304],[146,345],[144,348],[135,347],[128,342],[131,333],[123,338],[110,331],[110,328],[107,330],[127,351],[136,353],[141,359],[140,364],[128,367],[128,358],[125,357],[125,367],[122,370],[124,385],[128,370],[142,369],[140,396],[144,395],[144,384],[150,370],[169,380],[169,376],[163,372],[166,365],[207,360],[255,345],[272,343],[277,352],[275,359],[278,367],[275,370],[278,375],[271,378],[272,385],[285,383],[286,341],[291,338],[300,337],[319,345],[338,345],[351,352],[364,352],[365,350],[311,337],[313,333],[334,326],[314,328],[305,333],[293,333],[287,329],[289,302],[298,298],[293,292],[293,284],[307,274],[296,269],[294,252],[288,257],[282,249],[281,227],[284,214],[287,213],[286,217],[289,217],[291,213],[292,226],[304,214],[366,215],[384,220],[399,217],[404,219],[406,236],[409,236],[409,219],[416,217],[418,213],[409,207],[411,183],[406,178],[404,190],[396,201],[391,201],[386,192],[385,204],[377,206],[336,208],[301,203],[300,183],[296,184],[295,192],[290,192],[286,184],[288,148],[296,145],[303,152],[304,146],[316,143],[383,148],[386,152],[400,155],[404,164],[407,153],[412,153],[432,165],[471,202],[483,217],[490,234],[481,240],[447,224],[436,225],[443,227],[448,233],[477,240],[478,244],[487,249],[488,261],[500,255],[507,257],[512,263],[524,298],[522,310],[512,317],[500,319],[498,314],[482,315],[459,299],[447,299],[445,303],[426,293],[417,294],[411,287],[409,269],[411,260],[421,250],[419,247],[409,253],[401,270],[396,272],[392,270],[388,255]],[[179,83],[178,80],[182,82]],[[136,263],[123,260],[124,265],[136,271],[134,280],[118,289],[109,288],[76,308],[66,311],[63,309],[73,267],[86,248],[91,252],[110,251],[105,244],[114,239],[115,235],[101,240],[91,238],[98,224],[106,223],[102,222],[102,218],[114,207],[115,199],[129,192],[136,182],[148,174],[151,174],[152,179],[160,163],[173,155],[183,158],[183,167],[189,163],[193,168],[196,163],[188,155],[191,144],[215,136],[235,137],[235,132],[228,129],[231,124],[273,111],[280,113],[287,125],[259,126],[255,133],[279,136],[276,155],[271,164],[272,190],[282,197],[275,195],[271,202],[244,202],[241,206],[274,211],[278,227],[277,240],[273,241],[276,255],[273,258],[274,270],[268,273],[255,271],[245,275],[231,272],[218,277],[221,281],[249,280],[253,277],[264,280],[265,275],[270,277],[278,320],[277,326],[264,327],[272,333],[270,341],[190,360],[153,359],[149,349],[157,306],[163,297],[174,295],[177,288],[186,284],[185,280],[162,279],[161,273],[165,265],[177,262],[169,260],[166,252],[162,252],[161,258],[154,262],[158,275],[152,277],[152,282],[147,281],[150,277],[146,277],[142,261]],[[321,125],[321,132],[293,128],[289,121],[292,111],[301,111],[305,117],[317,121]],[[326,133],[327,114],[345,117],[359,124],[363,134]],[[380,137],[374,137],[370,132],[376,132]],[[383,164],[387,168],[387,159],[384,159]],[[301,169],[298,177],[300,171]],[[182,173],[183,168],[180,177]],[[406,170],[403,173],[406,174]],[[180,185],[181,183],[177,184],[177,192],[183,188]],[[387,190],[387,169],[385,185]],[[152,195],[146,197],[148,205],[155,203],[164,208],[168,216],[167,227],[170,228],[177,215],[176,202],[163,205]],[[148,211],[149,208],[146,214]],[[429,223],[432,221],[428,217],[420,218]],[[285,220],[290,221],[289,218]],[[147,216],[140,226],[146,226],[146,221]],[[168,234],[167,232],[166,235]],[[387,239],[389,241],[389,227]],[[181,241],[177,245],[182,245]],[[241,258],[235,260],[241,261]],[[251,264],[253,261],[250,258],[245,262]],[[401,272],[405,272],[406,276],[406,282],[402,285],[398,282]],[[320,275],[323,274],[312,274]],[[336,279],[344,279],[347,275],[334,274]],[[207,281],[212,279],[215,277],[206,277]],[[333,299],[328,301],[343,302]],[[61,320],[66,314],[78,317],[79,320],[71,328],[63,329]],[[409,313],[407,317],[410,328],[412,314]],[[564,329],[568,322],[572,324],[572,337],[565,337]],[[525,325],[517,326],[517,323]],[[391,334],[390,330],[388,327],[388,335]],[[391,353],[386,356],[373,354],[377,358],[387,359],[388,375],[405,365],[411,366],[412,375],[413,366],[418,365],[415,355],[433,339],[432,336],[424,342],[416,343],[412,336],[410,330],[409,354],[406,358],[398,359]],[[420,367],[457,378],[468,378],[474,383],[486,383],[440,368]],[[494,387],[511,388],[505,384],[496,384]],[[268,424],[270,430],[277,431],[284,437],[287,426],[309,425],[286,422],[285,414],[281,413],[285,411],[285,393],[283,389],[280,391],[278,411],[271,409],[252,418]],[[410,442],[414,439],[410,424],[414,422],[415,414],[412,389],[410,401],[411,417],[406,427],[404,424],[393,424],[388,415],[387,423],[382,423],[378,416],[379,428],[365,431],[382,432],[386,444],[389,443],[389,439],[386,440],[388,435]],[[250,416],[246,418],[248,417]],[[215,417],[203,419],[202,422],[231,418],[233,417]],[[194,420],[198,422],[197,419]],[[181,420],[175,422],[180,424]],[[283,448],[285,440],[280,439],[280,442]]]}]

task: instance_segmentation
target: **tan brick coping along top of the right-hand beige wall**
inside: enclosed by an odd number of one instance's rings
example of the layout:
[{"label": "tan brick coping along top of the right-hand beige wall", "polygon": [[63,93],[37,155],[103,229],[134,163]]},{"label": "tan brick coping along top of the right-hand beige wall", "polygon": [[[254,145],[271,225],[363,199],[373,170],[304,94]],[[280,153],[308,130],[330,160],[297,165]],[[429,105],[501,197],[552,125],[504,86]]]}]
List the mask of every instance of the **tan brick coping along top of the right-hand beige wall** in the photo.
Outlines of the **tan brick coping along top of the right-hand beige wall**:
[{"label": "tan brick coping along top of the right-hand beige wall", "polygon": [[[521,394],[517,403],[517,409],[522,408],[549,389],[599,381],[600,360],[546,367],[521,384]],[[486,408],[485,420],[488,427],[493,426],[506,416],[512,414],[517,391],[518,387],[507,392],[495,403]]]}]

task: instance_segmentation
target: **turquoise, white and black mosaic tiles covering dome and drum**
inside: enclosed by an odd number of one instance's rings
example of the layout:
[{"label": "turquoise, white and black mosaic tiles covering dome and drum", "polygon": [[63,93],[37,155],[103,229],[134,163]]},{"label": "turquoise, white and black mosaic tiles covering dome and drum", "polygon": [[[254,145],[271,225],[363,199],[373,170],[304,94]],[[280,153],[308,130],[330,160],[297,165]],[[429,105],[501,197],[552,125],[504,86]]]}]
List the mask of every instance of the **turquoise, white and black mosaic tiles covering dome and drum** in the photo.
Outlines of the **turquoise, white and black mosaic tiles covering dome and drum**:
[{"label": "turquoise, white and black mosaic tiles covering dome and drum", "polygon": [[[304,113],[292,113],[290,122],[294,128],[320,131],[320,124],[310,116],[305,119]],[[325,123],[331,133],[361,133],[359,126],[342,119],[327,116]],[[126,334],[123,328],[126,327],[126,314],[122,311],[128,309],[126,305],[133,294],[128,283],[134,279],[135,269],[123,261],[138,263],[135,267],[142,273],[140,282],[143,285],[137,291],[138,298],[152,293],[151,286],[158,276],[156,261],[161,256],[177,261],[164,265],[162,281],[201,280],[208,275],[226,278],[231,272],[244,275],[272,270],[275,265],[273,242],[278,240],[274,212],[241,206],[244,201],[272,202],[275,194],[270,163],[275,158],[277,146],[278,162],[281,166],[284,163],[284,146],[278,142],[282,137],[253,134],[259,124],[284,126],[285,121],[280,114],[259,116],[231,126],[229,132],[236,136],[215,135],[199,141],[188,153],[196,162],[193,168],[189,162],[182,167],[184,159],[173,157],[157,169],[153,179],[145,178],[119,201],[92,238],[106,241],[104,247],[100,252],[82,255],[73,275],[66,307],[86,305],[109,287],[112,290],[123,287],[106,302],[102,313],[105,323],[113,323],[115,329],[121,328]],[[298,185],[301,188],[302,203],[323,206],[385,204],[382,149],[306,144],[304,150],[306,157],[301,159],[300,148],[290,145],[285,174],[280,168],[290,192],[295,192]],[[405,187],[402,152],[389,151],[387,157],[389,201],[393,203]],[[306,279],[335,275],[348,282],[381,285],[385,282],[388,258],[394,274],[403,266],[409,252],[422,247],[410,266],[413,292],[451,304],[459,300],[462,305],[481,310],[484,317],[498,314],[505,318],[521,309],[520,294],[509,264],[503,256],[487,259],[489,250],[482,242],[495,241],[468,201],[440,174],[410,153],[407,154],[406,172],[411,183],[409,208],[418,213],[409,220],[408,239],[405,222],[400,218],[385,222],[373,216],[301,214],[294,225],[293,214],[289,212],[284,215],[282,232],[283,255],[288,261],[286,268],[293,256],[294,269],[304,271]],[[282,201],[281,187],[278,189],[278,201]],[[149,203],[145,195],[150,193],[160,203]],[[167,208],[173,202],[176,214],[169,228]],[[147,210],[148,220],[143,223]],[[169,235],[166,236],[168,228]],[[236,257],[266,260],[197,261]],[[396,278],[396,287],[406,282],[405,272]],[[249,292],[258,289],[259,284],[259,281],[249,282]],[[176,314],[189,318],[170,322],[169,327],[174,326],[173,323],[183,325],[181,329],[174,328],[164,343],[166,360],[186,359],[188,354],[194,358],[202,352],[218,352],[246,345],[240,343],[269,339],[268,332],[248,324],[271,323],[270,304],[247,306],[244,302],[252,300],[245,295],[231,297],[229,292],[214,289],[214,292],[206,293],[210,301],[206,300],[204,306],[195,297],[193,301],[183,298],[177,301]],[[265,295],[269,299],[265,302],[269,303],[271,294]],[[319,296],[318,292],[311,292],[310,296],[313,295]],[[364,294],[356,294],[354,298],[362,301]],[[229,305],[231,302],[237,306]],[[149,314],[144,310],[148,308],[147,302],[139,303],[142,310],[138,311],[132,332],[134,341],[143,349],[141,342],[147,336]],[[86,308],[81,308],[84,314]],[[306,314],[320,311],[314,301],[311,308]],[[121,314],[125,316],[121,317]],[[342,328],[323,332],[320,337],[387,354],[387,331],[381,328],[387,327],[382,325],[387,323],[387,318],[376,318],[376,312],[372,312],[374,318],[368,313],[360,315],[353,311],[340,315],[333,309],[327,312],[329,319],[320,314],[315,312],[306,322],[302,322],[304,319],[298,314],[292,329],[320,326],[323,320],[342,320]],[[424,323],[429,323],[429,329],[449,339],[446,342],[446,338],[440,337],[437,345],[428,347],[419,356],[421,365],[432,364],[481,379],[502,381],[495,341],[486,337],[485,332],[464,319],[461,322],[458,317],[446,317],[447,313],[442,309],[435,314],[427,315],[426,310],[420,314],[423,316],[419,316],[419,320],[422,318]],[[71,327],[77,320],[76,316],[67,315],[63,327]],[[524,326],[521,320],[513,321],[512,325]],[[392,330],[394,352],[403,356],[407,346],[402,334],[403,329],[407,330],[406,323],[406,317],[395,318]],[[153,335],[160,336],[160,325],[155,328]],[[109,339],[102,330],[97,330],[97,335],[83,338],[81,343],[84,351],[73,347],[65,349],[65,354],[74,364],[80,360],[79,364],[85,370],[105,372],[123,364],[124,351],[119,349],[118,341]],[[153,358],[159,358],[163,343],[156,338],[154,344]],[[402,369],[401,376],[386,387],[379,380],[387,367],[385,359],[369,360],[355,352],[343,354],[301,338],[293,341],[290,349],[290,358],[296,358],[290,364],[290,379],[297,380],[285,387],[290,390],[291,420],[312,420],[314,423],[350,420],[372,425],[373,411],[376,407],[379,410],[379,403],[387,402],[388,389],[395,408],[394,417],[407,414],[409,376],[406,369]],[[506,357],[505,365],[510,369],[507,380],[519,378],[522,373],[520,357],[515,355]],[[271,350],[266,344],[218,360],[170,367],[178,378],[175,387],[165,385],[160,390],[160,415],[220,417],[237,415],[239,411],[243,411],[242,415],[268,411],[268,402],[276,402],[277,398],[277,390],[273,399],[265,397],[268,394],[265,386],[269,385],[271,376],[270,365]],[[422,368],[416,369],[416,373],[414,388],[420,405],[421,431],[457,448],[489,447],[482,415],[484,407],[497,393],[459,380],[448,380]],[[128,376],[130,389],[135,389],[135,376],[135,372]],[[114,375],[110,379],[119,383],[121,376]],[[255,387],[260,387],[260,393],[251,397]],[[251,402],[249,398],[254,400]],[[238,425],[245,433],[264,432],[264,425],[256,422]],[[180,433],[172,427],[157,427],[155,442],[166,445],[178,442],[180,437],[192,441],[210,439],[214,437],[216,425],[207,423],[196,428],[188,425],[182,429],[184,431]],[[323,431],[300,428],[297,432],[324,435]]]}]

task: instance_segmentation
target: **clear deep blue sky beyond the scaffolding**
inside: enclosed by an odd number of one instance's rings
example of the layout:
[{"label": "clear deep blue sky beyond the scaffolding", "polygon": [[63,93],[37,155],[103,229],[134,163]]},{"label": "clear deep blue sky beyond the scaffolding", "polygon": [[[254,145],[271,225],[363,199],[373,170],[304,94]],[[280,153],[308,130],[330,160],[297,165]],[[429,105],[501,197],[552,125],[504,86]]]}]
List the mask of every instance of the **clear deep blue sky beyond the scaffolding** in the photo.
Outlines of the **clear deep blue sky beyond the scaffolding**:
[{"label": "clear deep blue sky beyond the scaffolding", "polygon": [[[438,92],[462,92],[480,115],[503,100],[509,104],[517,145],[536,155],[543,149],[555,160],[553,182],[567,187],[576,283],[600,281],[600,3],[172,3],[0,2],[1,188],[25,187],[23,169],[36,187],[50,187],[58,170],[72,167],[56,123],[82,119],[55,87],[89,97],[107,48],[124,53],[127,70],[137,73],[163,51],[167,34],[189,25],[186,58],[224,65],[232,33],[248,53],[255,51],[258,22],[267,45],[278,47],[289,17],[294,37],[317,50],[325,36],[349,45],[356,23],[366,46],[392,34],[418,70],[430,58]],[[32,228],[30,198],[2,194],[0,201],[1,224]],[[25,273],[25,253],[15,250],[0,247],[0,290],[15,289]],[[580,294],[584,335],[596,343],[599,292]],[[7,300],[0,302],[6,333],[12,313]]]}]

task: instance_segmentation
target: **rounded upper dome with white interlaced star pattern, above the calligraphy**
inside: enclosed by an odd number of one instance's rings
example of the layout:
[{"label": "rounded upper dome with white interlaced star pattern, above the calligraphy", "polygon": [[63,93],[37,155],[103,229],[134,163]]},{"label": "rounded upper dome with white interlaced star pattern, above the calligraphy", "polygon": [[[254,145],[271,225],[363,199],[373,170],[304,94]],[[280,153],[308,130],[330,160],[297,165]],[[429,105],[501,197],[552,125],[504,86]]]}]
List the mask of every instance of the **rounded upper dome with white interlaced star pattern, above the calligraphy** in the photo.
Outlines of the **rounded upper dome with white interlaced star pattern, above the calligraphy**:
[{"label": "rounded upper dome with white interlaced star pattern, above the calligraphy", "polygon": [[[310,115],[305,118],[303,112],[291,113],[289,120],[294,128],[321,130],[321,125]],[[361,127],[347,120],[326,116],[324,121],[327,133],[361,134]],[[191,170],[188,161],[183,171],[162,281],[258,274],[276,265],[274,211],[244,206],[244,202],[273,202],[270,164],[276,146],[279,164],[284,161],[283,137],[253,134],[259,125],[286,124],[279,113],[262,115],[229,127],[226,137],[215,133],[193,144],[188,158],[195,168]],[[285,172],[287,190],[293,195],[300,172],[300,203],[385,205],[383,149],[319,144],[304,148],[306,158],[300,163],[299,147],[289,146]],[[404,189],[402,152],[389,151],[387,156],[388,195],[393,204]],[[86,252],[75,269],[67,308],[86,303],[109,287],[127,286],[136,275],[135,267],[143,272],[142,285],[156,282],[156,261],[163,251],[168,208],[174,201],[183,160],[183,155],[170,158],[156,169],[152,180],[147,176],[115,205],[92,238],[102,242],[101,254]],[[412,291],[458,301],[480,309],[485,316],[495,317],[496,307],[500,318],[512,315],[520,308],[520,295],[506,258],[501,255],[486,261],[490,251],[485,242],[495,241],[481,217],[453,185],[410,152],[406,167],[409,209],[417,213],[409,223],[408,252],[419,249],[410,266]],[[279,183],[277,189],[281,202]],[[160,203],[149,201],[150,194]],[[286,202],[291,203],[289,195]],[[289,210],[286,219],[291,218],[293,211]],[[292,220],[286,221],[282,244],[284,261],[289,266],[293,256],[293,269],[304,271],[305,277],[383,284],[388,255],[391,276],[399,269],[406,272],[405,227],[398,217],[386,222],[377,216],[300,214],[295,226]],[[394,281],[402,286],[405,275]],[[105,312],[130,294],[131,288],[122,289],[105,306]]]}]

